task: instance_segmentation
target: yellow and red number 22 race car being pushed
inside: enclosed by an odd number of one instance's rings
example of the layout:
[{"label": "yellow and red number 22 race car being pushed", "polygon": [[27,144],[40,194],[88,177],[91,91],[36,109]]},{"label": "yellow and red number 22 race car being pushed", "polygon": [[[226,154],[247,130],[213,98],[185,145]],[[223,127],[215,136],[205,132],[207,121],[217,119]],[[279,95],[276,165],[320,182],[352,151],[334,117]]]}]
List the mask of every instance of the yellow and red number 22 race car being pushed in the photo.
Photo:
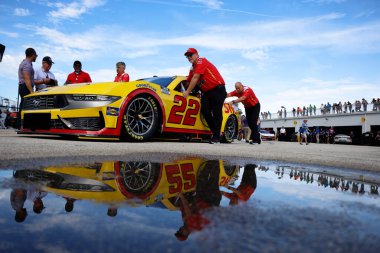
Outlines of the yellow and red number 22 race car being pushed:
[{"label": "yellow and red number 22 race car being pushed", "polygon": [[[186,77],[83,83],[43,89],[24,98],[20,133],[146,141],[173,134],[209,139],[199,92],[182,96]],[[238,131],[237,113],[223,107],[222,141]]]}]

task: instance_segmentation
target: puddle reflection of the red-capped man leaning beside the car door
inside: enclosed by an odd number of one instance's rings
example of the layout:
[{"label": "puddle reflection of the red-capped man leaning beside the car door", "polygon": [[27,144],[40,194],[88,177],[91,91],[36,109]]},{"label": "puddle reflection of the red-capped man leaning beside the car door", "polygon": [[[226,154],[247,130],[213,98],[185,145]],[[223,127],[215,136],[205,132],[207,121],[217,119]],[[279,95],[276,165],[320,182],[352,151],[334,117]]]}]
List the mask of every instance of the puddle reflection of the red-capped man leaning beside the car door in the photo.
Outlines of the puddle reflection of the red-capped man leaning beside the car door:
[{"label": "puddle reflection of the red-capped man leaning beside the car door", "polygon": [[202,230],[210,221],[204,213],[213,206],[219,206],[222,195],[219,191],[219,161],[207,161],[201,166],[197,177],[195,196],[178,194],[184,225],[175,236],[178,240],[186,240],[193,231]]}]

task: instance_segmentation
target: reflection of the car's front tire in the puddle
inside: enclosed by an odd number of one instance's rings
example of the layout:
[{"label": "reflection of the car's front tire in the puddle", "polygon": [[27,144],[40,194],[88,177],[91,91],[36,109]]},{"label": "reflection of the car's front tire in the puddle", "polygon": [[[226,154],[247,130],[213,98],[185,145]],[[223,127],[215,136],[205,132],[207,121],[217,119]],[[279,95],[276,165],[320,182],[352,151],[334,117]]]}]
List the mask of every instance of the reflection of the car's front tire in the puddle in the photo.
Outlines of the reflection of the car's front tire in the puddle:
[{"label": "reflection of the car's front tire in the puddle", "polygon": [[149,193],[160,175],[160,164],[151,162],[120,162],[120,187],[135,196]]}]

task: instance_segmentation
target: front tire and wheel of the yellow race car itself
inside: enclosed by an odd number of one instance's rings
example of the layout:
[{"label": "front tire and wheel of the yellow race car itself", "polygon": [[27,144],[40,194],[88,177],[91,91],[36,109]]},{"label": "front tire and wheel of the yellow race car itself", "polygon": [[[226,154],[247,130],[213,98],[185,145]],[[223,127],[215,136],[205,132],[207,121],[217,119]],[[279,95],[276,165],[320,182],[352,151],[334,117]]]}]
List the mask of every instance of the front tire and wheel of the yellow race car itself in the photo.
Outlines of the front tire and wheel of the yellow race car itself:
[{"label": "front tire and wheel of the yellow race car itself", "polygon": [[135,97],[125,108],[123,115],[124,137],[132,141],[146,141],[158,126],[157,102],[150,96]]}]

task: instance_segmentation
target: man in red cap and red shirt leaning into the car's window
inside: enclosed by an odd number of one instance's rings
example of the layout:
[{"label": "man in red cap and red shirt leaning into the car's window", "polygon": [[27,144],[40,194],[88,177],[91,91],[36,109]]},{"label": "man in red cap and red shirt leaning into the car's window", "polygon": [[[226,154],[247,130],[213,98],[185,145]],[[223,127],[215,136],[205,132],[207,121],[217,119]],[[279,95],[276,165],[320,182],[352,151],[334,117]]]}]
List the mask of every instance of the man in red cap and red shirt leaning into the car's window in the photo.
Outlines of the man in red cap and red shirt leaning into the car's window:
[{"label": "man in red cap and red shirt leaning into the car's window", "polygon": [[201,111],[213,135],[210,144],[220,142],[220,129],[223,120],[223,104],[227,92],[224,80],[217,68],[206,58],[199,57],[195,48],[189,48],[185,56],[192,64],[187,77],[188,87],[183,93],[187,98],[198,85],[202,91]]}]

